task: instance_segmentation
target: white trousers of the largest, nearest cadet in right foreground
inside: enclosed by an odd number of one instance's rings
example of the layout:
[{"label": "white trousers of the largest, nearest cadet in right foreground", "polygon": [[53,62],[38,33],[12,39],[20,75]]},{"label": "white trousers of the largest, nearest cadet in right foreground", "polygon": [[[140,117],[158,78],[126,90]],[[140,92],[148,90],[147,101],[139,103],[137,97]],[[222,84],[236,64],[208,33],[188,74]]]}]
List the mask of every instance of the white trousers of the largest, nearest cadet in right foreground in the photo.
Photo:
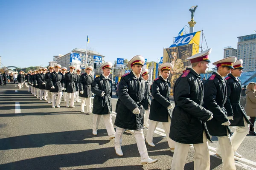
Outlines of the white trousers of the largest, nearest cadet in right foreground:
[{"label": "white trousers of the largest, nearest cadet in right foreground", "polygon": [[[210,169],[210,154],[209,144],[206,133],[203,133],[202,144],[193,144],[195,149],[194,155],[194,170],[209,170]],[[184,170],[186,158],[189,152],[189,144],[176,142],[175,150],[172,157],[171,170]]]}]

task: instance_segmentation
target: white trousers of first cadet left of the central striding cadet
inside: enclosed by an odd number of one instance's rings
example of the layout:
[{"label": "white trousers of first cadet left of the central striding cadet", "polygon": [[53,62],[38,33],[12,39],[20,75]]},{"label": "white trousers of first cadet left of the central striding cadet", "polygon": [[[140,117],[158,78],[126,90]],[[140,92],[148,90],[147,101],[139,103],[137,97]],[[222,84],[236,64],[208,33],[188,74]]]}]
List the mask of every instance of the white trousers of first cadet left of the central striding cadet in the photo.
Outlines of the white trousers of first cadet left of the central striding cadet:
[{"label": "white trousers of first cadet left of the central striding cadet", "polygon": [[[98,130],[101,116],[102,116],[101,114],[93,114],[93,131]],[[103,114],[103,118],[104,118],[106,130],[108,132],[108,136],[115,134],[115,129],[113,127],[111,114]]]}]

